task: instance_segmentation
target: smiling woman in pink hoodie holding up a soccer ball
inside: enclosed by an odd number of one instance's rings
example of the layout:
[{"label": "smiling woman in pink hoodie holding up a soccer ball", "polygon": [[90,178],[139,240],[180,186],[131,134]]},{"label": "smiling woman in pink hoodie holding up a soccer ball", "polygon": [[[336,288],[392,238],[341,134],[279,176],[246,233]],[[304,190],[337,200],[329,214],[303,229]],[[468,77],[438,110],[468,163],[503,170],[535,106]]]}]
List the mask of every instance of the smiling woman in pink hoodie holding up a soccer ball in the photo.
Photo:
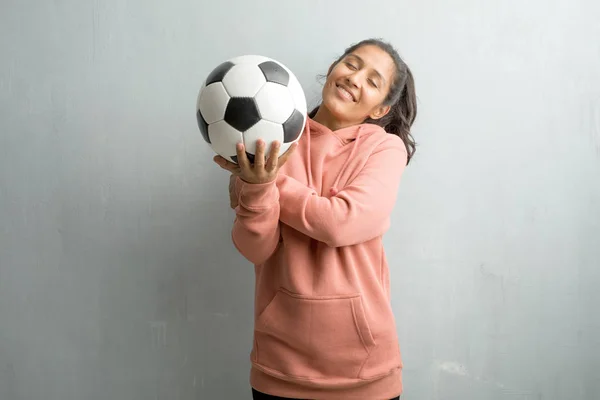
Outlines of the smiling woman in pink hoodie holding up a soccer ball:
[{"label": "smiling woman in pink hoodie holding up a soccer ball", "polygon": [[[382,236],[414,154],[412,74],[380,40],[329,68],[298,143],[238,145],[232,239],[255,265],[255,399],[399,398],[402,361]],[[267,153],[268,154],[265,154]]]}]

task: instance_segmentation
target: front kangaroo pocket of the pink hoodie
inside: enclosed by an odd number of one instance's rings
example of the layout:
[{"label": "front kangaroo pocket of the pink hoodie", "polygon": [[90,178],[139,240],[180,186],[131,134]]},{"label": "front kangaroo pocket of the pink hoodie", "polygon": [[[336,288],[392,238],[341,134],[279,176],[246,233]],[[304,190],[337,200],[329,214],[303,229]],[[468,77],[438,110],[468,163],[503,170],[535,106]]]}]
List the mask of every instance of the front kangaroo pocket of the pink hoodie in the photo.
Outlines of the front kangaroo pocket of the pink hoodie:
[{"label": "front kangaroo pocket of the pink hoodie", "polygon": [[304,296],[280,289],[255,327],[254,364],[281,379],[344,386],[375,346],[359,294]]}]

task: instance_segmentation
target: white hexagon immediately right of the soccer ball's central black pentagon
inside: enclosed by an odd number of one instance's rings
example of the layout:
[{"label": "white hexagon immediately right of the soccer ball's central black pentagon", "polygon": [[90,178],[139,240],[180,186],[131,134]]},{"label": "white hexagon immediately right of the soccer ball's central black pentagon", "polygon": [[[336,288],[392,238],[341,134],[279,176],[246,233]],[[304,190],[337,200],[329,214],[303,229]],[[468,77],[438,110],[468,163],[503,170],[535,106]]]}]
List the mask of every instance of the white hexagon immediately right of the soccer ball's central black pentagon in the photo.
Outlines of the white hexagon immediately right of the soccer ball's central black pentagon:
[{"label": "white hexagon immediately right of the soccer ball's central black pentagon", "polygon": [[283,124],[294,111],[294,100],[287,86],[267,82],[254,98],[262,118]]}]

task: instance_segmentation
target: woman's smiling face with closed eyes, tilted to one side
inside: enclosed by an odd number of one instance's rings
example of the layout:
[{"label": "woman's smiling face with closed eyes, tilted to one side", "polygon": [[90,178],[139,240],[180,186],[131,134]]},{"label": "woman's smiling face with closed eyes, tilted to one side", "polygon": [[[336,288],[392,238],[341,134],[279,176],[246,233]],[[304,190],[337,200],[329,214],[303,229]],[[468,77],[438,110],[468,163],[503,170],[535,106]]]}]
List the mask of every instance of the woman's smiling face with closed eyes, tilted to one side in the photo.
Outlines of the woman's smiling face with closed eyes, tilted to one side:
[{"label": "woman's smiling face with closed eyes, tilted to one side", "polygon": [[377,46],[365,45],[333,66],[323,87],[323,105],[342,125],[379,119],[394,79],[394,60]]}]

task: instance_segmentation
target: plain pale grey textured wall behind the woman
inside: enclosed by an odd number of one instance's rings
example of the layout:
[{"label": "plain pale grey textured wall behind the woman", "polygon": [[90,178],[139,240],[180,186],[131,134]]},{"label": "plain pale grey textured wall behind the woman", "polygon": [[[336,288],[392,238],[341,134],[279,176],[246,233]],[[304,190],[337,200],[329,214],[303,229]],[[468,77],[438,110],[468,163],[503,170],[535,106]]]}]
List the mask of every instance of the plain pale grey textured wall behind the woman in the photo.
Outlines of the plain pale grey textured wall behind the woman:
[{"label": "plain pale grey textured wall behind the woman", "polygon": [[371,36],[420,98],[385,239],[403,397],[598,398],[599,15],[592,0],[3,0],[0,399],[249,399],[253,268],[197,91],[257,53],[314,105],[317,76]]}]

